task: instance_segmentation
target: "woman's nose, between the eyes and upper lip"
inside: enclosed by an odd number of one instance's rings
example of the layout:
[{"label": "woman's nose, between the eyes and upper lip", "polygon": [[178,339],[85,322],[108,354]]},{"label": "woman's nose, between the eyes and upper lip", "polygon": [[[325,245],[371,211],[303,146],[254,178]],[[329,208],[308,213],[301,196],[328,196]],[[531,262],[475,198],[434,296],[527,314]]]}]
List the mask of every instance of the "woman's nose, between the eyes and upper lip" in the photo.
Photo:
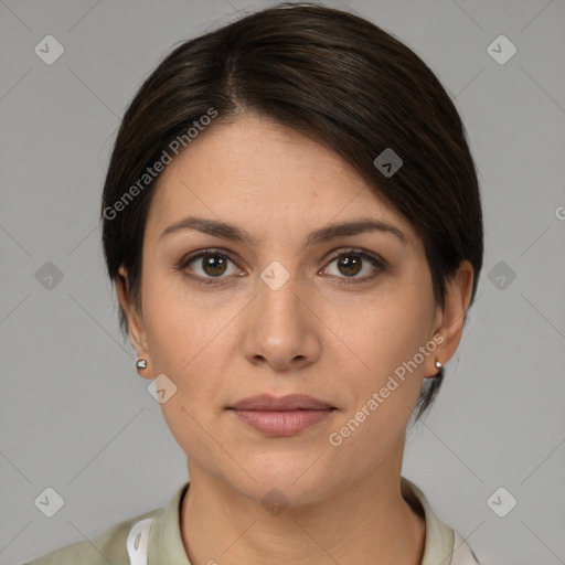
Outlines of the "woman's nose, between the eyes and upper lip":
[{"label": "woman's nose, between the eyes and upper lip", "polygon": [[279,284],[266,277],[257,285],[257,296],[246,309],[243,352],[254,365],[289,372],[319,359],[321,322],[308,305],[303,285],[292,276]]}]

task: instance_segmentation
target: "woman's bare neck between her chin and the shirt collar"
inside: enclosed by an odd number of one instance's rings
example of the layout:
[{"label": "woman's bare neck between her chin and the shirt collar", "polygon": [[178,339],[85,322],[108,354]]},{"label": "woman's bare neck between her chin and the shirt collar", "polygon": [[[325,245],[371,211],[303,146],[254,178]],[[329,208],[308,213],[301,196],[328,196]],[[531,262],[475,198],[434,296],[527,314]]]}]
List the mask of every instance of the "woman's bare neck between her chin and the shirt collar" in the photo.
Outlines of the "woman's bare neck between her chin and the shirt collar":
[{"label": "woman's bare neck between her chin and the shirt collar", "polygon": [[192,565],[420,565],[425,521],[402,498],[401,460],[331,497],[269,514],[226,481],[189,466],[181,533]]}]

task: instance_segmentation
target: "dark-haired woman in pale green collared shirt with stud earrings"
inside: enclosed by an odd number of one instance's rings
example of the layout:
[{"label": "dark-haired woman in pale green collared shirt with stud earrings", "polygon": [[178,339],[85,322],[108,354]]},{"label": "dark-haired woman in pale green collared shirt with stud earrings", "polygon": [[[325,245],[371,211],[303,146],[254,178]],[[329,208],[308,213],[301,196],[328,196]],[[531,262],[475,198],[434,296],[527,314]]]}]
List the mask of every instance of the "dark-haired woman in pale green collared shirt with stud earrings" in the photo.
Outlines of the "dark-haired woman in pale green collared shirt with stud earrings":
[{"label": "dark-haired woman in pale green collared shirt with stud earrings", "polygon": [[465,129],[419,57],[315,4],[183,43],[124,117],[102,218],[190,482],[34,564],[478,563],[401,476],[483,252]]}]

